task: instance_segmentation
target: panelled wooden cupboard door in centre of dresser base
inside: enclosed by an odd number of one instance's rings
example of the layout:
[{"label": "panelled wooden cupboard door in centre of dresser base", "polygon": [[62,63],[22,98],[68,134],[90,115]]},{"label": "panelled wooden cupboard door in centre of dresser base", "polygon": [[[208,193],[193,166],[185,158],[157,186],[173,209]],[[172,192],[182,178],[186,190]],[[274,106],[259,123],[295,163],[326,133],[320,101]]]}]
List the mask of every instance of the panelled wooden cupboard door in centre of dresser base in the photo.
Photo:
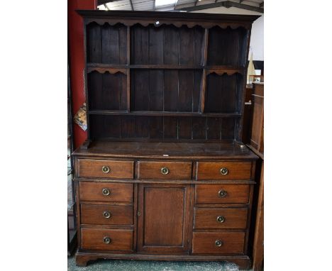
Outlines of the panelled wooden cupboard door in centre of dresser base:
[{"label": "panelled wooden cupboard door in centre of dresser base", "polygon": [[140,184],[138,251],[187,253],[192,217],[190,184]]}]

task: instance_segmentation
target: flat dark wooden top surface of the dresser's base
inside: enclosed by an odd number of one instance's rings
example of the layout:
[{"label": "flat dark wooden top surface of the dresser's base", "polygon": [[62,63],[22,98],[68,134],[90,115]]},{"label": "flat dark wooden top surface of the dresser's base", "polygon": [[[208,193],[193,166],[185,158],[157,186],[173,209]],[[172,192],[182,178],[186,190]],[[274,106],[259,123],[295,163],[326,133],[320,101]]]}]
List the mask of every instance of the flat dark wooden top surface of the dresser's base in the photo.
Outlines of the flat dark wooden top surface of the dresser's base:
[{"label": "flat dark wooden top surface of the dresser's base", "polygon": [[75,156],[143,157],[157,159],[248,159],[258,158],[243,144],[178,143],[178,142],[114,142],[93,141],[89,148],[78,148]]}]

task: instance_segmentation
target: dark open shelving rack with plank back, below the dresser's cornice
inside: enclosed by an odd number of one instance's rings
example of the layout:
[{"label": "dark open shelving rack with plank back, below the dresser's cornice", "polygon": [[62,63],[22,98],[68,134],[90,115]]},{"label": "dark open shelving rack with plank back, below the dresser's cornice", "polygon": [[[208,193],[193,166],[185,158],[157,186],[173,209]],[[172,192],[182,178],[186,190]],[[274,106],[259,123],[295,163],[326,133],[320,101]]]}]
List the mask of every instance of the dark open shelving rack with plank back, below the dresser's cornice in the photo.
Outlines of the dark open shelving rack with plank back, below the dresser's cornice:
[{"label": "dark open shelving rack with plank back, below the dresser's cornice", "polygon": [[240,140],[250,20],[119,19],[85,21],[88,139]]}]

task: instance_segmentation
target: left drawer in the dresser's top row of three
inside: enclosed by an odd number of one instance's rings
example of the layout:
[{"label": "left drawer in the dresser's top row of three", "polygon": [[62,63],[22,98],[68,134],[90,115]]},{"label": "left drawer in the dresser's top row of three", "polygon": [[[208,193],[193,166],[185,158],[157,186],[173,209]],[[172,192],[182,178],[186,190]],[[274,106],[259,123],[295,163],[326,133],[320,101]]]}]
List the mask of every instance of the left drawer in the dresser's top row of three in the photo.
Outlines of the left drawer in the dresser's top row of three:
[{"label": "left drawer in the dresser's top row of three", "polygon": [[78,160],[78,177],[133,179],[133,161]]}]

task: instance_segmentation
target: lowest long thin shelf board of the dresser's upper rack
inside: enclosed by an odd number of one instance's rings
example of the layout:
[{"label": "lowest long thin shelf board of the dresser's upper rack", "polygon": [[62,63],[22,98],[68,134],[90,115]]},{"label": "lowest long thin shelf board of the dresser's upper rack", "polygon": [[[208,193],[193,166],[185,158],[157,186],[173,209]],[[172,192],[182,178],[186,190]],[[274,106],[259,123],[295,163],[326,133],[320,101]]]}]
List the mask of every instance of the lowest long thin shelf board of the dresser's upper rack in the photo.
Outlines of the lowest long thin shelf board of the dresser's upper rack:
[{"label": "lowest long thin shelf board of the dresser's upper rack", "polygon": [[240,117],[238,113],[199,113],[199,112],[165,112],[165,111],[108,111],[89,110],[90,115],[113,115],[113,116],[203,116],[203,117]]}]

